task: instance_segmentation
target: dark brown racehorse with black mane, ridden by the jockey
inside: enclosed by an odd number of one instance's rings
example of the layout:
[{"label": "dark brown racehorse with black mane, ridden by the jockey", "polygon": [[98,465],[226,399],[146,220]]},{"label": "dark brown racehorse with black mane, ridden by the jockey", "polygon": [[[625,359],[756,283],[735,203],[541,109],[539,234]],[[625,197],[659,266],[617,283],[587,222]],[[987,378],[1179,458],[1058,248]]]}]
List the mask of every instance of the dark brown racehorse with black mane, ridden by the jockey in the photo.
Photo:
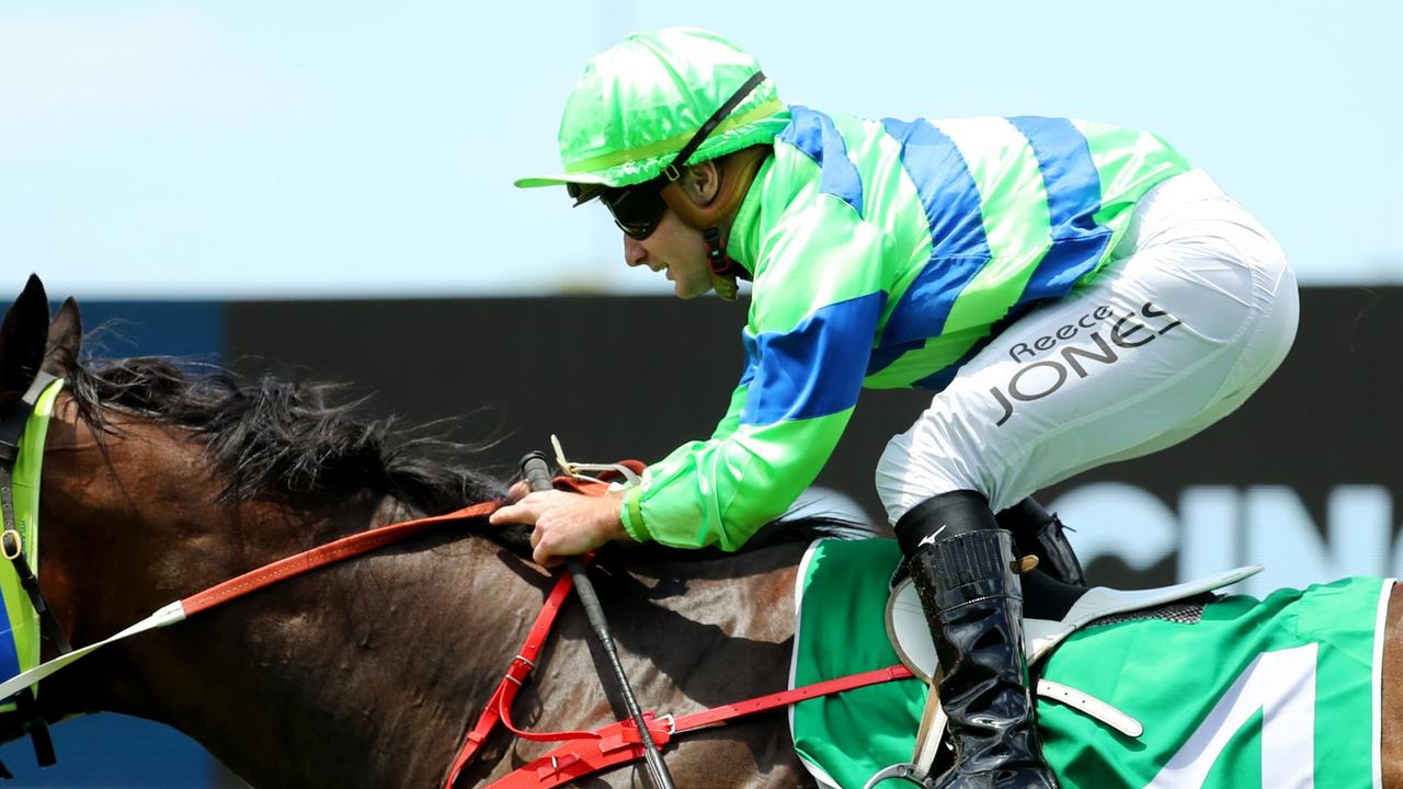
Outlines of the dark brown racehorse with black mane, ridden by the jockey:
[{"label": "dark brown racehorse with black mane, ridden by the jockey", "polygon": [[[470,453],[368,421],[333,392],[167,359],[87,359],[79,307],[36,279],[0,327],[0,411],[65,379],[43,448],[39,580],[73,644],[253,567],[384,524],[501,498]],[[446,455],[446,456],[445,456]],[[786,688],[797,564],[811,529],[737,553],[629,548],[591,570],[650,709],[686,713]],[[478,518],[333,564],[119,642],[45,679],[48,722],[98,710],[188,734],[253,786],[438,786],[556,576],[523,533]],[[1383,785],[1403,788],[1403,604],[1388,608]],[[526,727],[624,717],[565,606],[513,706]],[[52,647],[45,647],[52,657]],[[22,734],[0,717],[0,737]],[[550,745],[492,734],[459,786]],[[678,786],[815,786],[783,709],[679,737]],[[584,779],[636,786],[638,764]]]}]

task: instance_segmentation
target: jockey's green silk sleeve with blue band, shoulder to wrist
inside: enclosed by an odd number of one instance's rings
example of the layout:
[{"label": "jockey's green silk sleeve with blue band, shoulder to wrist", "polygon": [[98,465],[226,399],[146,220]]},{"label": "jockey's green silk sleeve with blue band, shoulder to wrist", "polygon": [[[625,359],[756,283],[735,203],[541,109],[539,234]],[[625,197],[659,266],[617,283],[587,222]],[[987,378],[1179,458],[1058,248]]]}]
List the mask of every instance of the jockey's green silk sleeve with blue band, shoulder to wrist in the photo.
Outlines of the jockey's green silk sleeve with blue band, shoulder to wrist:
[{"label": "jockey's green silk sleeve with blue band, shoulder to wrist", "polygon": [[888,247],[831,195],[783,215],[760,244],[746,376],[713,438],[654,463],[626,497],[630,535],[732,550],[812,484],[861,389]]}]

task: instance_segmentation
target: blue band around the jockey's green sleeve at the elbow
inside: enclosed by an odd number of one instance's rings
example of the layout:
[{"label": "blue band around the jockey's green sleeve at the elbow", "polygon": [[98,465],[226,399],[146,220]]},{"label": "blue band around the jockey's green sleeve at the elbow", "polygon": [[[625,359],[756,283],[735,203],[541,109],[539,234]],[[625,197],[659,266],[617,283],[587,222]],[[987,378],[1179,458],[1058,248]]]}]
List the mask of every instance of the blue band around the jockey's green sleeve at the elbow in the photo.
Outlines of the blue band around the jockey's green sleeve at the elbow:
[{"label": "blue band around the jockey's green sleeve at the elbow", "polygon": [[853,407],[885,303],[887,293],[877,291],[818,309],[790,331],[756,336],[759,364],[741,424],[807,420]]}]

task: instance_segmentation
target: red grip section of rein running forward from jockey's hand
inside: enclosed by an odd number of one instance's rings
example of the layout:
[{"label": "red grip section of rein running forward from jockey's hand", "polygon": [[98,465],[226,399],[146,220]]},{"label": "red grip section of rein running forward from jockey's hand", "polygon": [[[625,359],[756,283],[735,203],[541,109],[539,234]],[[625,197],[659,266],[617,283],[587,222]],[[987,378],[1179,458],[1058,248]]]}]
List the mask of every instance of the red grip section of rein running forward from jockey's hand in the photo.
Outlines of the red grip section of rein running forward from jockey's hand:
[{"label": "red grip section of rein running forward from jockey's hand", "polygon": [[351,559],[352,556],[359,556],[369,550],[375,550],[376,548],[390,545],[391,542],[404,539],[414,532],[424,531],[434,524],[481,518],[483,515],[491,515],[498,507],[501,507],[499,501],[483,501],[481,504],[473,504],[471,507],[464,507],[446,515],[418,518],[415,521],[390,524],[368,532],[354,533],[351,536],[313,548],[311,550],[304,550],[286,559],[279,559],[278,562],[265,564],[257,570],[250,570],[243,576],[209,587],[202,592],[192,594],[181,599],[180,604],[181,608],[185,609],[185,616],[194,616],[201,611],[223,605],[248,592],[258,591],[295,576],[300,576],[309,570],[334,564],[342,559]]}]

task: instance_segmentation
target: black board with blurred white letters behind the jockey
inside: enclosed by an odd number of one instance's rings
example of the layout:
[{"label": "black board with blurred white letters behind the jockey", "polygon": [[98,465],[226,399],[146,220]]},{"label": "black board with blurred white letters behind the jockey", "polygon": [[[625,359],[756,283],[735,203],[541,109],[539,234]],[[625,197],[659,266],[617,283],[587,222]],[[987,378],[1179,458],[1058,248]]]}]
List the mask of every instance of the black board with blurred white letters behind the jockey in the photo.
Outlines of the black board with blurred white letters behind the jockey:
[{"label": "black board with blurred white letters behind the jockey", "polygon": [[[239,366],[354,382],[348,394],[373,393],[373,410],[411,421],[457,418],[448,435],[495,439],[483,460],[501,475],[512,473],[523,451],[543,448],[551,432],[581,459],[655,460],[685,439],[710,435],[744,365],[744,300],[292,300],[226,309],[226,358],[258,357]],[[1094,543],[1089,545],[1093,580],[1169,583],[1205,566],[1200,555],[1215,550],[1250,562],[1253,546],[1270,536],[1253,518],[1273,511],[1289,515],[1295,531],[1284,541],[1305,541],[1310,549],[1305,553],[1320,549],[1326,552],[1320,556],[1350,557],[1378,553],[1379,546],[1392,552],[1392,501],[1403,496],[1403,475],[1393,460],[1403,437],[1403,417],[1393,407],[1403,383],[1395,350],[1403,340],[1403,288],[1310,288],[1302,293],[1301,313],[1287,362],[1237,413],[1186,444],[1086,472],[1040,496],[1075,504],[1085,503],[1087,491],[1110,491],[1090,496],[1103,503],[1099,512],[1118,501],[1132,505],[1127,522],[1099,524],[1093,531],[1100,536],[1086,538]],[[878,518],[873,468],[887,441],[927,402],[929,394],[919,392],[864,392],[818,484],[842,491]],[[1125,490],[1104,487],[1115,484],[1134,494],[1127,498]],[[1164,512],[1155,511],[1155,501]],[[1208,507],[1214,501],[1216,510]],[[1386,517],[1379,515],[1385,504]],[[1187,521],[1186,507],[1212,510],[1226,536],[1215,536],[1211,524]],[[1336,543],[1351,539],[1351,526],[1336,521],[1365,510],[1371,533],[1381,528],[1374,521],[1388,521],[1383,542],[1375,535],[1374,548],[1345,546],[1340,553]],[[1174,522],[1156,526],[1155,518]],[[1306,526],[1323,549],[1309,545]],[[1146,541],[1163,543],[1152,550],[1157,555],[1135,556],[1134,538],[1142,528]],[[1243,529],[1256,535],[1247,543]],[[1187,546],[1200,559],[1186,564],[1180,543],[1200,532],[1208,543]],[[1214,548],[1214,541],[1222,545]],[[1367,567],[1343,566],[1338,574],[1386,573],[1395,564],[1390,556]]]}]

